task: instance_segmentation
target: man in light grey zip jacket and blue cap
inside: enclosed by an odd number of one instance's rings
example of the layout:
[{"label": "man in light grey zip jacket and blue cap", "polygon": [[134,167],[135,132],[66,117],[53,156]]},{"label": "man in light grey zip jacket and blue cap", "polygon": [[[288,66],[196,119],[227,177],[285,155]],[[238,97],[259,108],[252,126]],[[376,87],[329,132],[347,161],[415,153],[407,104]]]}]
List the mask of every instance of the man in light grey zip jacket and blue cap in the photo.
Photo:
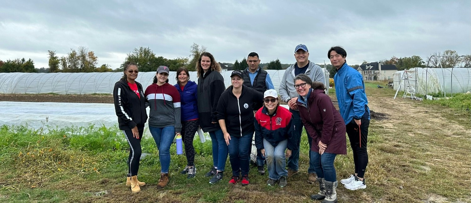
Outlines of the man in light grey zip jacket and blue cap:
[{"label": "man in light grey zip jacket and blue cap", "polygon": [[[296,105],[296,100],[298,99],[298,92],[294,88],[294,78],[296,75],[304,73],[309,75],[312,81],[319,81],[325,84],[325,75],[319,65],[309,61],[309,51],[308,47],[304,44],[296,46],[294,49],[294,58],[296,63],[291,65],[286,69],[283,75],[283,79],[280,82],[279,93],[281,99],[288,103],[290,107],[290,112],[293,114],[293,124],[295,135],[298,139],[298,150],[293,150],[291,157],[288,158],[288,177],[291,177],[298,172],[298,161],[299,161],[299,145],[301,141],[302,133],[302,122],[301,117],[298,111],[298,106]],[[311,138],[308,135],[309,146],[311,146]],[[309,156],[310,159],[310,156]],[[309,177],[308,182],[316,182],[316,172],[314,171],[314,166],[309,163],[308,169]]]}]

